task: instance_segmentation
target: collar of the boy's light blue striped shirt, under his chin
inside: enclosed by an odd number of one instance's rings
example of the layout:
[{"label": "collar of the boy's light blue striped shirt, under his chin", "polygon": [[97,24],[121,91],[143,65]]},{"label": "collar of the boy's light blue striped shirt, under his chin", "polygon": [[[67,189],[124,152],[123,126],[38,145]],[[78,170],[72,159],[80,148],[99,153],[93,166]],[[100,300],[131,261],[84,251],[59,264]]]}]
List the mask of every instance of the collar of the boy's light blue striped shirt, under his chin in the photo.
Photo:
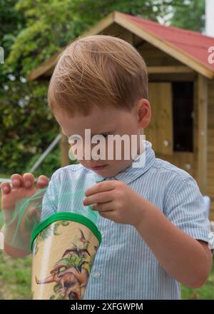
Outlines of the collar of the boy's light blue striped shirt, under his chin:
[{"label": "collar of the boy's light blue striped shirt, under his chin", "polygon": [[141,155],[137,156],[130,166],[118,172],[116,176],[103,178],[98,173],[93,172],[96,183],[106,180],[119,180],[128,184],[136,180],[143,173],[148,171],[156,160],[155,152],[153,151],[152,144],[149,141],[143,140],[143,146],[146,148]]}]

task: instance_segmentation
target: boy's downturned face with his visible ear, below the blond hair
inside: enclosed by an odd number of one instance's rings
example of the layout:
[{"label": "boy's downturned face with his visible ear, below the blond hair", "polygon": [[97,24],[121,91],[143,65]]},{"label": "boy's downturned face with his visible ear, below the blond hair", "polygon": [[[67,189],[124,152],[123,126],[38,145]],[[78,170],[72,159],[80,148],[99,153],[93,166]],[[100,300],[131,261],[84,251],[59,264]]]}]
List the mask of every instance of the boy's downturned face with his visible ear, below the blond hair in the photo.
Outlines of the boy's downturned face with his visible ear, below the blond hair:
[{"label": "boy's downturned face with his visible ear, below the blond hair", "polygon": [[[141,103],[136,104],[132,111],[121,108],[98,108],[94,106],[88,116],[75,113],[74,116],[70,117],[61,109],[58,109],[54,115],[65,136],[70,139],[73,138],[73,140],[77,138],[76,136],[82,138],[82,145],[78,145],[80,143],[78,140],[73,141],[73,144],[75,144],[73,145],[74,155],[76,156],[81,151],[83,156],[83,158],[76,157],[78,162],[84,167],[95,171],[100,176],[111,177],[116,176],[119,171],[131,165],[134,158],[132,158],[133,155],[130,153],[131,136],[134,135],[136,137],[135,141],[133,141],[133,144],[136,143],[133,146],[136,149],[136,154],[143,152],[144,148],[140,146],[140,134],[142,133],[141,129],[146,127],[150,121],[151,108],[149,102],[146,99],[142,99]],[[90,135],[90,141],[88,141],[88,135],[86,136],[86,129]],[[113,146],[109,144],[108,135],[118,135],[118,138],[121,138],[124,134],[127,134],[126,140],[129,138],[130,143],[126,141],[125,145],[124,141],[113,141]],[[91,143],[93,136],[101,136],[102,142],[95,141]],[[98,143],[102,143],[102,146],[98,147]],[[121,146],[121,156],[120,153],[116,155],[118,146]],[[96,147],[101,149],[98,150]],[[101,156],[101,150],[102,152],[105,151],[104,156],[102,155],[98,160],[94,159],[94,152],[97,153],[97,156]],[[90,158],[87,157],[86,151],[90,151]],[[112,160],[108,158],[109,152],[113,154]],[[126,160],[127,153],[128,160]],[[94,168],[97,166],[103,167]]]}]

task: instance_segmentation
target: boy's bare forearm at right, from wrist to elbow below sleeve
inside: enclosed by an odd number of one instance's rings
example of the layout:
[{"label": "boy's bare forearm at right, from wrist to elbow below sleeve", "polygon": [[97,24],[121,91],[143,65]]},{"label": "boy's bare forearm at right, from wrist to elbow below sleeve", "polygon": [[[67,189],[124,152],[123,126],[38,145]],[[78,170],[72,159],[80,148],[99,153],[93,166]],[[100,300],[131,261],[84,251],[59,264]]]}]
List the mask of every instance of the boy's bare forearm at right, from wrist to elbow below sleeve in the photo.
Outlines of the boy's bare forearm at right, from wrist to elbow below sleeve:
[{"label": "boy's bare forearm at right, from wrist to elbow below sleeve", "polygon": [[184,285],[193,288],[203,285],[212,266],[207,243],[175,227],[152,203],[145,200],[142,205],[144,210],[136,229],[161,266]]}]

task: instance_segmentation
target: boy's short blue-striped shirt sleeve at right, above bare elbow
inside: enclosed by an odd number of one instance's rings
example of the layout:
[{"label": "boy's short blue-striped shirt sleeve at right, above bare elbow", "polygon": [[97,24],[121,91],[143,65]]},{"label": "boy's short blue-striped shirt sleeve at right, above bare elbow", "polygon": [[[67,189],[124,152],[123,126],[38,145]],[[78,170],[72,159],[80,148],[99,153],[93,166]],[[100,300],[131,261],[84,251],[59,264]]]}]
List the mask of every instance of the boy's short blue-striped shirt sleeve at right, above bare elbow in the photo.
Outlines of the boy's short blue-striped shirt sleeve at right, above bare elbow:
[{"label": "boy's short blue-striped shirt sleeve at right, above bare elbow", "polygon": [[164,208],[165,215],[175,226],[197,240],[208,242],[210,222],[205,211],[205,201],[192,177],[179,183]]}]

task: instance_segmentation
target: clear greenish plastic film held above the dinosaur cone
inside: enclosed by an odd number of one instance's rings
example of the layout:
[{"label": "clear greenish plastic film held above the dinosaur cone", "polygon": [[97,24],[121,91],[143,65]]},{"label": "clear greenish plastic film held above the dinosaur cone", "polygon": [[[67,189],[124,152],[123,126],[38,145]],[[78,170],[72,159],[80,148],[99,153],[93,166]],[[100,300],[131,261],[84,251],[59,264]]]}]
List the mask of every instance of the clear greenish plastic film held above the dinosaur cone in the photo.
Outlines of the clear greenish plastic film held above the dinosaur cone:
[{"label": "clear greenish plastic film held above the dinosaur cone", "polygon": [[[58,212],[78,213],[88,218],[96,225],[98,219],[98,211],[93,211],[91,206],[83,206],[83,198],[85,191],[89,186],[96,182],[91,181],[81,188],[75,188],[72,191],[71,182],[63,181],[63,187],[60,193],[53,188],[53,182],[49,183],[46,188],[37,189],[36,192],[29,197],[19,198],[17,195],[6,196],[8,199],[4,201],[2,208],[2,216],[4,225],[1,228],[1,248],[2,233],[4,234],[4,249],[21,250],[25,253],[31,253],[31,236],[41,223]],[[52,184],[52,186],[50,186]],[[35,190],[34,190],[35,191]],[[30,193],[28,191],[28,193]],[[14,198],[17,201],[14,201]],[[1,223],[2,226],[3,223]],[[0,226],[0,227],[1,227]],[[7,250],[6,248],[9,248]],[[19,253],[18,253],[19,256]],[[21,255],[20,255],[21,256]]]}]

